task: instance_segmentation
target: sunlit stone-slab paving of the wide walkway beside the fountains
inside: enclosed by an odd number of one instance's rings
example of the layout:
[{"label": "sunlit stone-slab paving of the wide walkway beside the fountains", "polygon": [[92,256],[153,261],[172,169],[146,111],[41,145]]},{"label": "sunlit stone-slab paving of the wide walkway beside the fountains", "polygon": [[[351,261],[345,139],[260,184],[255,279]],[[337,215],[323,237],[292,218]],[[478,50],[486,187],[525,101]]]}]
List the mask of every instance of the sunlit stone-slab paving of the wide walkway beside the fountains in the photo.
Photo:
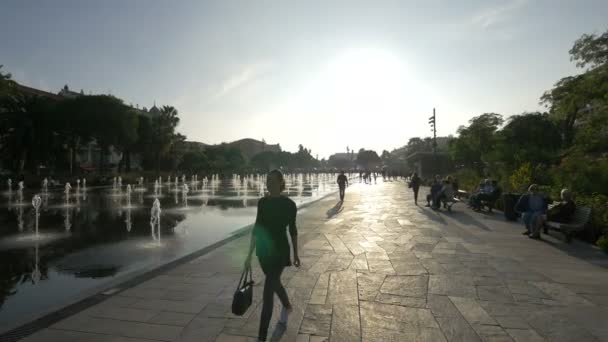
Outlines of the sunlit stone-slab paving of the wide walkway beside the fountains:
[{"label": "sunlit stone-slab paving of the wide walkway beside the fountains", "polygon": [[[461,204],[453,213],[416,207],[403,182],[356,185],[336,203],[332,195],[298,215],[302,267],[283,276],[295,310],[281,341],[608,341],[608,261],[594,247],[534,241],[499,213]],[[257,263],[254,304],[243,317],[230,313],[247,243],[23,341],[255,341]]]}]

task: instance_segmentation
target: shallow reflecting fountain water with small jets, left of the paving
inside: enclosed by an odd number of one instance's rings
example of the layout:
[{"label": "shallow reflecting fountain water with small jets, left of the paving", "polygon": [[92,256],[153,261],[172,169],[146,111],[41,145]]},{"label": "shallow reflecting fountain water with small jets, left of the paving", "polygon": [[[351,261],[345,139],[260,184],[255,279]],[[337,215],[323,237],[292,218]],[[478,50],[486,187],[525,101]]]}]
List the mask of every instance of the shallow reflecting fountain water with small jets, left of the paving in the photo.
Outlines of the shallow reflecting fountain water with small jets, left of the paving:
[{"label": "shallow reflecting fountain water with small jets, left of the paving", "polygon": [[[102,188],[87,188],[83,180],[80,186],[75,181],[74,189],[69,184],[43,189],[37,239],[32,238],[35,213],[27,204],[35,193],[24,190],[25,204],[19,205],[13,191],[5,192],[0,331],[7,322],[34,317],[111,277],[169,262],[229,236],[253,222],[265,193],[263,175],[184,180],[159,179],[158,192],[149,191],[153,184],[138,184],[131,189],[131,205],[121,178]],[[286,175],[286,185],[298,204],[336,188],[335,175]],[[156,200],[162,211],[152,218]],[[38,290],[44,298],[34,295]]]}]

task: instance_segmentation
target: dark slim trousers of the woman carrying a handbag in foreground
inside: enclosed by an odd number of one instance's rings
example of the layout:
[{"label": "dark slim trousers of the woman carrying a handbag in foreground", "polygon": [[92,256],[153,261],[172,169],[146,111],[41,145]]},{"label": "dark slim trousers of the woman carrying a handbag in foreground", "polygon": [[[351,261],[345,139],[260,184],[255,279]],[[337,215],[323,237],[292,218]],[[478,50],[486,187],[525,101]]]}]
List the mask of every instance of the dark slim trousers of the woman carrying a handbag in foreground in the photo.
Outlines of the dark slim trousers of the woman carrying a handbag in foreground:
[{"label": "dark slim trousers of the woman carrying a handbag in foreground", "polygon": [[276,262],[264,262],[260,260],[260,266],[266,279],[264,280],[264,295],[262,297],[262,316],[260,319],[260,330],[258,332],[258,338],[262,341],[266,341],[266,335],[268,335],[268,325],[272,318],[272,308],[274,305],[274,294],[279,296],[279,300],[283,306],[289,306],[289,298],[287,292],[281,284],[281,274],[285,266],[279,265]]}]

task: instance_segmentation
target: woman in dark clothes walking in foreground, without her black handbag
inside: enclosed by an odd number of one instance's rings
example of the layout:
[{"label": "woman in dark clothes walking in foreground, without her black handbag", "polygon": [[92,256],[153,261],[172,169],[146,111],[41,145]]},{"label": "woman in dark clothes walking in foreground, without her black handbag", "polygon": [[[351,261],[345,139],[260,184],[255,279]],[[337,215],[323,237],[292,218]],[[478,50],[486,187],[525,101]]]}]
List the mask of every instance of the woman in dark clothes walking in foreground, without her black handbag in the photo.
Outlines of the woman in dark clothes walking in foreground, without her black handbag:
[{"label": "woman in dark clothes walking in foreground, without her black handbag", "polygon": [[279,170],[273,170],[266,179],[268,195],[258,202],[258,214],[251,234],[251,244],[245,267],[251,267],[251,255],[256,255],[266,276],[264,282],[264,295],[262,302],[262,315],[258,341],[266,341],[268,325],[272,318],[274,294],[276,293],[283,304],[279,325],[287,326],[287,316],[293,310],[287,297],[287,292],[281,284],[281,273],[286,266],[291,266],[289,242],[286,228],[289,226],[289,235],[293,246],[293,264],[300,267],[298,257],[298,231],[296,229],[297,207],[294,201],[281,192],[285,190],[285,180]]}]

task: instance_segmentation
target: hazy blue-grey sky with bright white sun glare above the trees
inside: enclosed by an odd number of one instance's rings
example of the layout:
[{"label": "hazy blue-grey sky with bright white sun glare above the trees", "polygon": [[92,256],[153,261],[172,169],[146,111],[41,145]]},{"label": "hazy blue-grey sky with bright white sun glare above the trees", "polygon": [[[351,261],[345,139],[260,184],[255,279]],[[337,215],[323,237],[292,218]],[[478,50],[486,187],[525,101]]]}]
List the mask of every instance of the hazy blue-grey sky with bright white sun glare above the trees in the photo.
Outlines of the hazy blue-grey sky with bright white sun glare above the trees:
[{"label": "hazy blue-grey sky with bright white sun glare above the trees", "polygon": [[174,106],[188,140],[323,158],[429,136],[433,108],[440,136],[542,110],[607,16],[605,0],[2,0],[0,64],[35,88]]}]

